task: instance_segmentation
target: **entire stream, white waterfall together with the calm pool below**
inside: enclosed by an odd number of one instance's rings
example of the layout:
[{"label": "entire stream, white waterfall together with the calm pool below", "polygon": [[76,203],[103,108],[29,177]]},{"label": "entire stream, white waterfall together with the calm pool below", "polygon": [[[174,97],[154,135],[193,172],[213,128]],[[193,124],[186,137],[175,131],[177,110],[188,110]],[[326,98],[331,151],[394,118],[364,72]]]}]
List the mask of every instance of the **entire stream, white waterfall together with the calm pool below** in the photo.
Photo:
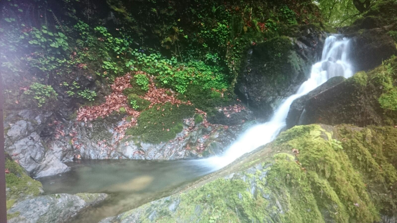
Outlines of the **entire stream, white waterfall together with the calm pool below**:
[{"label": "entire stream, white waterfall together with the calm pool below", "polygon": [[39,179],[47,194],[107,193],[109,198],[97,207],[80,213],[73,223],[98,223],[147,202],[174,194],[188,183],[227,166],[259,146],[271,142],[283,129],[294,100],[309,93],[331,77],[352,76],[348,59],[349,40],[329,36],[322,58],[312,66],[310,78],[274,111],[273,117],[258,124],[236,140],[221,156],[190,161],[79,161],[68,164],[71,171]]}]

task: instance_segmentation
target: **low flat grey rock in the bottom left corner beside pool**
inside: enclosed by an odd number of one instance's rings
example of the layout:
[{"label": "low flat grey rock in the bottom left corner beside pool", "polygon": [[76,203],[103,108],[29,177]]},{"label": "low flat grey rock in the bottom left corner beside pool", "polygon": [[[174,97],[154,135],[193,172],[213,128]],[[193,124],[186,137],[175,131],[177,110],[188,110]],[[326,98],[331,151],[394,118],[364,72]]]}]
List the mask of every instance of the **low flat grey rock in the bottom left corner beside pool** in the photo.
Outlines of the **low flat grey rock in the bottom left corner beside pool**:
[{"label": "low flat grey rock in the bottom left corner beside pool", "polygon": [[53,194],[15,203],[7,212],[9,223],[62,223],[78,212],[105,200],[106,194]]}]

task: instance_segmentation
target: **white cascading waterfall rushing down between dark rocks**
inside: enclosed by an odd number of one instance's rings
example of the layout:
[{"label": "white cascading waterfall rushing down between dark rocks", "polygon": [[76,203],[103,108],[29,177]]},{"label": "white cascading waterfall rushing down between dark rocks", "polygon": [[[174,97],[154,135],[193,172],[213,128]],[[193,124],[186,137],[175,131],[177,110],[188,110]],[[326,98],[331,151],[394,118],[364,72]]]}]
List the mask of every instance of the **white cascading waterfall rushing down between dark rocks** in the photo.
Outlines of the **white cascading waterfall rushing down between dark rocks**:
[{"label": "white cascading waterfall rushing down between dark rocks", "polygon": [[349,40],[339,35],[326,39],[320,62],[312,66],[310,78],[305,81],[296,94],[287,98],[275,111],[270,121],[248,129],[234,142],[222,156],[205,159],[203,162],[214,169],[220,169],[232,163],[245,153],[271,142],[285,127],[285,119],[292,102],[314,90],[334,76],[348,78],[353,75],[347,58]]}]

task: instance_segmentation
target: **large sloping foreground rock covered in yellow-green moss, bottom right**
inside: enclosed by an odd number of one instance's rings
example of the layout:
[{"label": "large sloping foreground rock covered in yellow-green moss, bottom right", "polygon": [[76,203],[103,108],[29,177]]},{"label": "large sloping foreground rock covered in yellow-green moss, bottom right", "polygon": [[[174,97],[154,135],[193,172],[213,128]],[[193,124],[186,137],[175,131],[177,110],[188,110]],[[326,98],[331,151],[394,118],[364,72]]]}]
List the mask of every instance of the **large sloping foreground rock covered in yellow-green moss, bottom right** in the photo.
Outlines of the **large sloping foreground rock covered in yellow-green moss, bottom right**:
[{"label": "large sloping foreground rock covered in yellow-green moss, bottom right", "polygon": [[374,223],[396,212],[397,129],[295,126],[189,190],[101,223]]}]

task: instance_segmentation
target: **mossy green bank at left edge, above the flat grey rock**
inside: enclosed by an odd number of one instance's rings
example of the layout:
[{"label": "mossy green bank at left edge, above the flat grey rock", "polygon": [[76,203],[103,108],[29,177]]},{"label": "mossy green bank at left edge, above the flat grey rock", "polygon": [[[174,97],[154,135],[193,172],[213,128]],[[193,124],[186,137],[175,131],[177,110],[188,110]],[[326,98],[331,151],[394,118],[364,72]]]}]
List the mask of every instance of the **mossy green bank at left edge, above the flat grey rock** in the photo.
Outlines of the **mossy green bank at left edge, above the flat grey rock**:
[{"label": "mossy green bank at left edge, above the flat grey rock", "polygon": [[5,168],[10,173],[5,174],[7,199],[18,199],[20,197],[38,196],[42,193],[42,184],[28,176],[24,169],[9,158],[5,160]]}]

